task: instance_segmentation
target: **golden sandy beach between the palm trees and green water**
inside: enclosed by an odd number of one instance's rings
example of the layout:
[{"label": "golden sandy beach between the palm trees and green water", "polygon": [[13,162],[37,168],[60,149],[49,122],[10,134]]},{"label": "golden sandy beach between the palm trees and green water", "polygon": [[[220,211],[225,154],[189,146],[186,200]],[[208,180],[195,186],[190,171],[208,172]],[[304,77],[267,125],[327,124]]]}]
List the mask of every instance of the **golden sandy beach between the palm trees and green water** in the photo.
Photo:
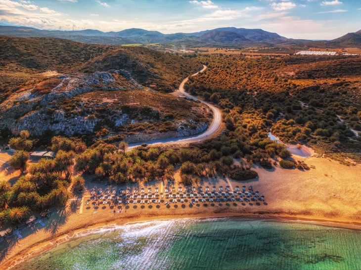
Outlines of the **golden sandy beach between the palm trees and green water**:
[{"label": "golden sandy beach between the palm trees and green water", "polygon": [[[296,160],[303,160],[311,167],[309,171],[298,169],[287,170],[279,166],[266,170],[254,166],[258,172],[257,179],[236,182],[231,179],[216,178],[203,179],[199,186],[219,187],[236,186],[247,188],[251,185],[254,191],[265,196],[265,202],[241,203],[240,201],[221,203],[196,203],[190,207],[189,201],[184,203],[160,204],[129,204],[123,212],[118,207],[100,205],[97,209],[85,205],[90,194],[78,200],[69,201],[65,209],[53,213],[43,220],[43,225],[36,223],[26,231],[22,231],[23,238],[12,236],[0,242],[1,268],[6,269],[16,262],[35,256],[56,244],[76,237],[80,231],[91,230],[112,224],[123,225],[129,222],[141,222],[152,219],[170,219],[185,217],[222,217],[222,216],[254,216],[256,219],[277,218],[283,222],[306,222],[326,226],[336,226],[350,229],[361,229],[361,181],[360,165],[345,166],[336,161],[323,157],[302,158],[294,156]],[[179,185],[179,175],[175,176],[174,186]],[[88,183],[88,189],[94,185],[104,187],[103,183]],[[113,186],[114,187],[114,186]],[[133,184],[132,188],[144,188],[145,193],[150,187],[154,193],[165,193],[166,185],[161,181],[153,181],[145,186]],[[196,186],[197,187],[197,186]],[[184,187],[183,187],[184,191]],[[90,201],[91,202],[91,201]],[[144,206],[144,207],[142,207]],[[158,208],[157,208],[158,207]],[[120,209],[120,208],[119,208]]]}]

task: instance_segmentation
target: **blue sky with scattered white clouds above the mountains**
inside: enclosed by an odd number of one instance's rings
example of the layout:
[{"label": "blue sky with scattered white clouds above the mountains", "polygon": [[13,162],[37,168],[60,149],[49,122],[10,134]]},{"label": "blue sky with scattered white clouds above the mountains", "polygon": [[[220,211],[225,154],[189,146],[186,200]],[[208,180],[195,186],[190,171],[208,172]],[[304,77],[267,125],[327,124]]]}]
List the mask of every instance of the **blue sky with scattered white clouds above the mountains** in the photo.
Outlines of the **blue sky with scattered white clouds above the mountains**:
[{"label": "blue sky with scattered white clouds above the mountains", "polygon": [[233,26],[334,39],[361,29],[361,0],[0,0],[0,24],[164,34]]}]

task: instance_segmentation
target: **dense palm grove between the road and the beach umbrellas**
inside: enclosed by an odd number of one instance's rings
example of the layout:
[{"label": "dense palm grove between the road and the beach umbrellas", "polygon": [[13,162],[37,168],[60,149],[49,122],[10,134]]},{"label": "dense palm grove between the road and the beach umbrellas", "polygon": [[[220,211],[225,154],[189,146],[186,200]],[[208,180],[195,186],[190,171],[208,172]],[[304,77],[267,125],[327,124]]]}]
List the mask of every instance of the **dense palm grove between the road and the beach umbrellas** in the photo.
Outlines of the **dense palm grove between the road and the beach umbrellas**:
[{"label": "dense palm grove between the road and the beach umbrellas", "polygon": [[64,206],[72,195],[71,190],[77,191],[85,184],[81,173],[95,174],[115,184],[154,179],[172,181],[178,168],[184,185],[195,184],[202,177],[216,173],[230,173],[238,180],[257,176],[247,162],[233,165],[231,155],[251,152],[242,138],[230,140],[225,135],[188,148],[143,145],[132,151],[126,151],[128,145],[124,141],[113,145],[98,140],[87,147],[81,139],[55,136],[50,147],[55,158],[42,158],[37,163],[27,163],[26,150],[32,146],[28,136],[27,131],[22,131],[20,137],[9,142],[18,149],[9,163],[22,172],[27,169],[28,174],[22,175],[13,186],[6,181],[0,183],[1,222],[21,222],[34,211]]}]

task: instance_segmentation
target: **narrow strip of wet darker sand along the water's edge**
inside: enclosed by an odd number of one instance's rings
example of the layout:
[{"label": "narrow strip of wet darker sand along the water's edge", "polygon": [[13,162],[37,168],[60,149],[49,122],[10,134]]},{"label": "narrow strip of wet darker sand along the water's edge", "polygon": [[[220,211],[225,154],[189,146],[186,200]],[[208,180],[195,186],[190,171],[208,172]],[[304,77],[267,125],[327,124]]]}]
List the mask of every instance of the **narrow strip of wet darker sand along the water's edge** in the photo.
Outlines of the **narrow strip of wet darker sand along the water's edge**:
[{"label": "narrow strip of wet darker sand along the water's edge", "polygon": [[237,213],[237,212],[221,212],[221,213],[201,213],[201,214],[183,214],[183,215],[159,215],[159,216],[142,216],[142,217],[126,217],[116,218],[110,221],[103,221],[96,224],[89,225],[83,228],[69,229],[67,232],[59,236],[49,237],[34,243],[27,247],[12,258],[1,262],[4,269],[12,269],[16,265],[23,263],[31,258],[41,255],[42,253],[51,250],[58,244],[63,244],[72,239],[78,239],[90,234],[100,233],[101,229],[116,229],[118,226],[126,226],[132,224],[141,224],[150,221],[175,220],[175,219],[208,219],[208,218],[243,218],[242,221],[262,221],[262,222],[279,222],[279,223],[296,223],[308,224],[316,226],[324,226],[331,228],[339,228],[346,230],[361,231],[361,222],[352,220],[336,220],[327,219],[325,217],[306,217],[302,215],[287,215],[287,214],[260,214],[260,213]]}]

